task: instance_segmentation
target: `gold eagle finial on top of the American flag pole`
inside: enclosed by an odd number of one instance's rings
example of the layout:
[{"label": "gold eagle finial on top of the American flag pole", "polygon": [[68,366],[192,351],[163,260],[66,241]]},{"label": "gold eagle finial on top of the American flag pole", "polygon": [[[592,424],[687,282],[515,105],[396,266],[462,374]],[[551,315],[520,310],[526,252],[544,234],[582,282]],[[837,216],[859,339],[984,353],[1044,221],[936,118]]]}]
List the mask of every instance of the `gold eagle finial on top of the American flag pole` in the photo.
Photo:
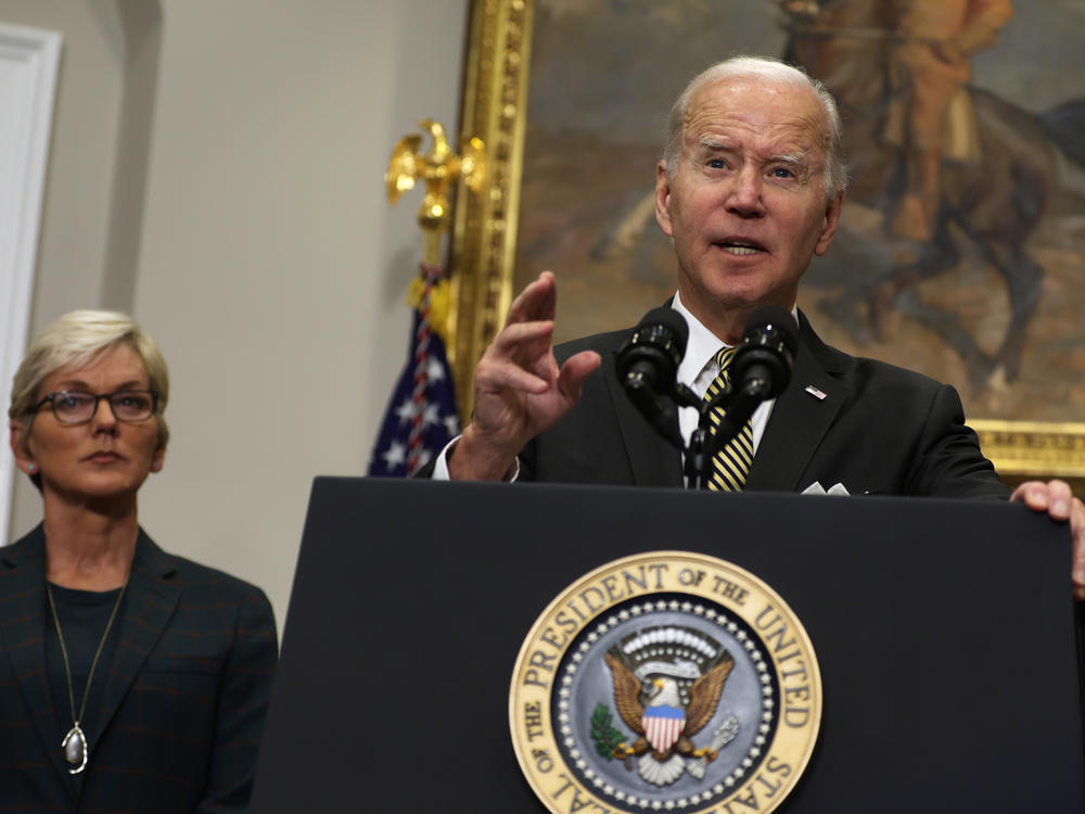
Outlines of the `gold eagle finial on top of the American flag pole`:
[{"label": "gold eagle finial on top of the American flag pole", "polygon": [[429,152],[422,152],[420,133],[404,136],[392,151],[384,180],[388,204],[395,204],[404,192],[413,189],[416,181],[425,182],[425,198],[418,211],[418,224],[425,236],[423,260],[435,265],[441,263],[441,234],[449,222],[449,191],[458,180],[473,191],[481,188],[486,173],[484,145],[481,139],[468,139],[457,155],[439,123],[423,118],[419,126],[429,131],[433,147]]}]

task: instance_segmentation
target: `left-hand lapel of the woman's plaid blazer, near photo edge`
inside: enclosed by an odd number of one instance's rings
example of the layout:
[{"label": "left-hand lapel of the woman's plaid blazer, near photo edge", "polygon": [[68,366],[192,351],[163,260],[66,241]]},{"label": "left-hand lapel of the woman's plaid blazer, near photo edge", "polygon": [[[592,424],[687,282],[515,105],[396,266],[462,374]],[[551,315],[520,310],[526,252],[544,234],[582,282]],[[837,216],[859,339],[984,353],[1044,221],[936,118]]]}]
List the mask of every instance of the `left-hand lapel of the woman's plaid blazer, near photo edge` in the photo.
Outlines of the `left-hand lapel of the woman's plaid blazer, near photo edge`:
[{"label": "left-hand lapel of the woman's plaid blazer, near photo edge", "polygon": [[[61,742],[72,726],[53,708],[46,673],[46,535],[39,525],[2,555],[0,564],[0,639],[11,660],[26,709],[34,718],[49,762],[60,776],[59,785],[71,794],[67,763]],[[74,799],[74,798],[73,798]]]}]

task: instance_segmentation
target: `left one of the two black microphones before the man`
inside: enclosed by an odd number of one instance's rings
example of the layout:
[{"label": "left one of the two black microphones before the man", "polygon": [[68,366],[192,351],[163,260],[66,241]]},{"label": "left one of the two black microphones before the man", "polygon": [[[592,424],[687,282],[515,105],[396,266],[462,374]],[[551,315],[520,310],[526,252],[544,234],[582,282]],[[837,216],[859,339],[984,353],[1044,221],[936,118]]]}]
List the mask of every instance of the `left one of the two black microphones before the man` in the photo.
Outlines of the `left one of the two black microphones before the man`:
[{"label": "left one of the two black microphones before the man", "polygon": [[689,326],[669,306],[653,308],[617,352],[615,368],[626,395],[663,437],[682,446],[674,400],[678,365],[686,354]]}]

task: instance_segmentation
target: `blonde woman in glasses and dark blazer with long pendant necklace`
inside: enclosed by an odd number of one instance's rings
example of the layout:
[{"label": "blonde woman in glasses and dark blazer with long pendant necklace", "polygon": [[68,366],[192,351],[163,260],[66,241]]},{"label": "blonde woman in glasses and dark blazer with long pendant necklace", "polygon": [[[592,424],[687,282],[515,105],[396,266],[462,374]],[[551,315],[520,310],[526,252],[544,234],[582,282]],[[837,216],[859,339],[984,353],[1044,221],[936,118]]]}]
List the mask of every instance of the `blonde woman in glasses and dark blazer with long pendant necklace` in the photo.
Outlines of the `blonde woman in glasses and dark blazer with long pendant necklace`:
[{"label": "blonde woman in glasses and dark blazer with long pendant necklace", "polygon": [[58,319],[15,373],[11,448],[44,514],[0,548],[0,811],[247,809],[275,619],[139,526],[168,395],[154,341],[106,311]]}]

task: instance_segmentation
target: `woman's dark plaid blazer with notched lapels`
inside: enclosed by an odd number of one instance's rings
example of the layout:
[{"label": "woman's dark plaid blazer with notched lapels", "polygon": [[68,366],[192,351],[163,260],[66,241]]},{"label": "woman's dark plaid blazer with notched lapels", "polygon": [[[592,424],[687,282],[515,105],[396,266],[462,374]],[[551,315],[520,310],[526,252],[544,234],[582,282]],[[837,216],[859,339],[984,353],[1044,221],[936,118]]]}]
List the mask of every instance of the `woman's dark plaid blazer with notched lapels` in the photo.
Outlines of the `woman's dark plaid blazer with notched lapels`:
[{"label": "woman's dark plaid blazer with notched lapels", "polygon": [[40,525],[0,549],[0,812],[247,811],[278,658],[264,593],[140,531],[76,799],[71,713],[46,675],[44,564]]}]

